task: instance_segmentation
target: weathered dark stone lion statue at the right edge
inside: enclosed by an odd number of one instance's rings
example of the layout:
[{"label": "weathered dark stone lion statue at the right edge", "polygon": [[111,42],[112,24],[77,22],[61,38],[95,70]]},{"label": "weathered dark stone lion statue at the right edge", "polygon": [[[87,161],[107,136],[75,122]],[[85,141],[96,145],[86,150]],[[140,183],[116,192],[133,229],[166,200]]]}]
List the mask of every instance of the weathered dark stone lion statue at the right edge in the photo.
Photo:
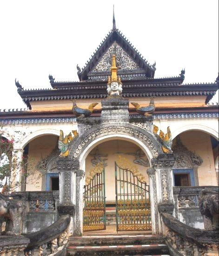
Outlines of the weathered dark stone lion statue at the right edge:
[{"label": "weathered dark stone lion statue at the right edge", "polygon": [[199,192],[199,209],[206,230],[219,229],[219,195],[211,189]]}]

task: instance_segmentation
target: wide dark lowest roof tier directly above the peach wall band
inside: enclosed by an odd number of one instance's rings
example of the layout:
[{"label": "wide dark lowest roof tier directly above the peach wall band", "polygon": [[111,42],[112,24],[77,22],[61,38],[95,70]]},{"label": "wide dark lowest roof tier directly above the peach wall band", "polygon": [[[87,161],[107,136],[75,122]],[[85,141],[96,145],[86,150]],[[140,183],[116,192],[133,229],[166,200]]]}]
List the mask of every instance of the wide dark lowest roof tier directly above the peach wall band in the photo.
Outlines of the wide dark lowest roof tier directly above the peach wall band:
[{"label": "wide dark lowest roof tier directly above the peach wall band", "polygon": [[[123,97],[206,96],[208,103],[216,91],[217,83],[179,84],[179,81],[140,80],[123,81]],[[59,89],[19,90],[20,97],[31,109],[31,101],[102,99],[107,97],[105,82],[75,82],[62,84]]]}]

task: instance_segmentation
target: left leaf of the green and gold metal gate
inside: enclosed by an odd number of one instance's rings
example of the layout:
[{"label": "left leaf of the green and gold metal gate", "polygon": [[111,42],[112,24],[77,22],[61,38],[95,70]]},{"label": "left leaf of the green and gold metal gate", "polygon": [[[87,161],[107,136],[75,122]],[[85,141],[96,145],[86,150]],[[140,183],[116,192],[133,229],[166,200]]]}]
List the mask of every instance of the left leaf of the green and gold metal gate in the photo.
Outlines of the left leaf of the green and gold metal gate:
[{"label": "left leaf of the green and gold metal gate", "polygon": [[101,163],[90,170],[83,195],[83,231],[106,229],[105,170]]}]

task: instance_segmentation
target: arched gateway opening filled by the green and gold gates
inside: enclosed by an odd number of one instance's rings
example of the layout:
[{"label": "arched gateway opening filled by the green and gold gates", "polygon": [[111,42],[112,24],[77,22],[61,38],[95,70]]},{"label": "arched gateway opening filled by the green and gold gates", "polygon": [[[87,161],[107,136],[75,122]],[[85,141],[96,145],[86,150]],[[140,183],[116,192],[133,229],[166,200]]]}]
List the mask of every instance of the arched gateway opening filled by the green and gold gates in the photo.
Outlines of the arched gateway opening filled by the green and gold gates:
[{"label": "arched gateway opening filled by the green and gold gates", "polygon": [[123,137],[102,141],[85,160],[83,231],[150,230],[146,154]]}]

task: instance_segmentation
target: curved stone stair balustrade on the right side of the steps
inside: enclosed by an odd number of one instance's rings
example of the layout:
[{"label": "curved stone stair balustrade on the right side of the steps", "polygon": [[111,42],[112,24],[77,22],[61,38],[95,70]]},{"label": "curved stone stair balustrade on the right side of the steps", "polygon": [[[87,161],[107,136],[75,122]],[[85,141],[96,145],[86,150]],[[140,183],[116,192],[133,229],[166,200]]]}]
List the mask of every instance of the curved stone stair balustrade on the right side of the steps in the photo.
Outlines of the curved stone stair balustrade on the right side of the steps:
[{"label": "curved stone stair balustrade on the right side of the steps", "polygon": [[[219,232],[194,229],[168,213],[162,214],[167,228],[167,245],[174,256],[218,255]],[[207,254],[206,254],[207,253]],[[215,254],[209,254],[215,253]]]}]

